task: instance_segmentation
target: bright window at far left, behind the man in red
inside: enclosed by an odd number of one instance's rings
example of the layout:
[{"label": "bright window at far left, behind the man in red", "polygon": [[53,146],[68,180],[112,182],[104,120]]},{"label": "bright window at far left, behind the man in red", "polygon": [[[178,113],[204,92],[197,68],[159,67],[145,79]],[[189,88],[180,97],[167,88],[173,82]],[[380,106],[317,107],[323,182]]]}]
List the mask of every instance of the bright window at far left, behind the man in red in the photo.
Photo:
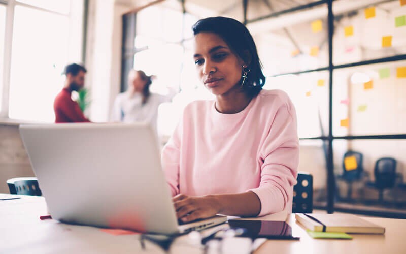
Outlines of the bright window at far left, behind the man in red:
[{"label": "bright window at far left, behind the man in red", "polygon": [[[1,90],[7,91],[2,116],[53,122],[53,101],[63,86],[63,68],[81,61],[82,24],[77,17],[82,16],[83,1],[16,0],[0,7],[0,19],[6,10],[12,17],[6,27],[12,27],[12,33],[3,40],[11,45],[7,48],[9,58],[2,55],[0,59],[0,65],[4,61],[7,67],[1,70],[10,77],[3,84],[7,89]],[[0,39],[5,34],[4,23],[0,23]]]}]

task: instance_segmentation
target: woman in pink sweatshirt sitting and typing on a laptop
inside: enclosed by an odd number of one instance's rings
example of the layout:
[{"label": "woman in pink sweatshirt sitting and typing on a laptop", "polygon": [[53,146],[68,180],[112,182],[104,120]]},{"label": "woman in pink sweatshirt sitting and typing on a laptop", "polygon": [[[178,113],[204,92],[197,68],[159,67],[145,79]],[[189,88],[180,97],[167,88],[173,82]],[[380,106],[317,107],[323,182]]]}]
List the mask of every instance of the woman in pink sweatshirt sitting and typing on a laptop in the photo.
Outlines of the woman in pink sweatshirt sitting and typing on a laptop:
[{"label": "woman in pink sweatshirt sitting and typing on a laptop", "polygon": [[162,151],[178,218],[291,212],[299,156],[292,102],[281,90],[262,90],[256,46],[242,23],[201,19],[193,33],[199,79],[216,99],[186,106]]}]

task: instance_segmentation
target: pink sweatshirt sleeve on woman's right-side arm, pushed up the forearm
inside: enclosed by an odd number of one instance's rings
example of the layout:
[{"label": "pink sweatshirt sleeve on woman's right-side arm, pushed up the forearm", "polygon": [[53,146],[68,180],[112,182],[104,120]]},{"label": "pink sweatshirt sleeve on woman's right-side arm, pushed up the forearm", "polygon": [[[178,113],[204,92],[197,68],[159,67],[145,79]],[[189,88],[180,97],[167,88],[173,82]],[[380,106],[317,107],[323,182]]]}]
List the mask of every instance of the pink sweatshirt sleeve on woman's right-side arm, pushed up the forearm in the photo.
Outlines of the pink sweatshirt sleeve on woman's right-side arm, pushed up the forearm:
[{"label": "pink sweatshirt sleeve on woman's right-side arm, pushed up the forearm", "polygon": [[259,187],[250,189],[261,201],[258,216],[280,212],[286,207],[291,209],[299,163],[296,125],[294,108],[289,104],[282,105],[260,149],[263,164]]}]

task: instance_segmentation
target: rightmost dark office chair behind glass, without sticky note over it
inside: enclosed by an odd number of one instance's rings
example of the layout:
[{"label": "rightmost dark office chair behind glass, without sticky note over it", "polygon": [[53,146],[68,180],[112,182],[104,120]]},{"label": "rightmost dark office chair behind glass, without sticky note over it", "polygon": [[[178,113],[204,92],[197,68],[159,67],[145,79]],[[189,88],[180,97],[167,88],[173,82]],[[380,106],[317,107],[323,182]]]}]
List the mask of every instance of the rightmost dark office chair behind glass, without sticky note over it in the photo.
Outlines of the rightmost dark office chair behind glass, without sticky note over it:
[{"label": "rightmost dark office chair behind glass, without sticky note over it", "polygon": [[385,189],[395,187],[396,178],[396,160],[394,158],[385,157],[380,158],[375,163],[374,168],[375,182],[367,182],[366,186],[378,189],[379,202],[383,203],[383,192]]}]

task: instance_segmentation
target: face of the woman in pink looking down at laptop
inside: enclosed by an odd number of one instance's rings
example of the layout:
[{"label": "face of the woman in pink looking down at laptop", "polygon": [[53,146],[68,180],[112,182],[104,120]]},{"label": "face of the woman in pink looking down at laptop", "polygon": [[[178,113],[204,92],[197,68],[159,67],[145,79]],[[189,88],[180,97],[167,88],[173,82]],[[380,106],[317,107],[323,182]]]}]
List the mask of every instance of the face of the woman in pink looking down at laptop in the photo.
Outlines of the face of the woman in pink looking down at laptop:
[{"label": "face of the woman in pink looking down at laptop", "polygon": [[216,96],[239,88],[244,61],[220,36],[199,33],[194,37],[194,62],[200,81]]}]

